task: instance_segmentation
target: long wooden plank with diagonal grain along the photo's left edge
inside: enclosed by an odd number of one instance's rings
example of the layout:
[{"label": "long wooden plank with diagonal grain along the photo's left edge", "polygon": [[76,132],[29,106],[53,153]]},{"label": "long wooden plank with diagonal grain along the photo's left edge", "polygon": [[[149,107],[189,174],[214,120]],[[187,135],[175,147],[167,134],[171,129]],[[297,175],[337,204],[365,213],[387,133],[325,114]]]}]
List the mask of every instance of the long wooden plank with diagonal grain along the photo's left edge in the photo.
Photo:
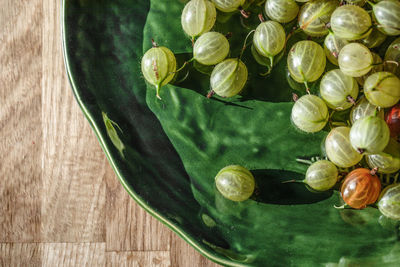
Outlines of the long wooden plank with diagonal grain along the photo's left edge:
[{"label": "long wooden plank with diagonal grain along the photo's left edge", "polygon": [[40,238],[42,6],[0,6],[0,242],[33,242]]}]

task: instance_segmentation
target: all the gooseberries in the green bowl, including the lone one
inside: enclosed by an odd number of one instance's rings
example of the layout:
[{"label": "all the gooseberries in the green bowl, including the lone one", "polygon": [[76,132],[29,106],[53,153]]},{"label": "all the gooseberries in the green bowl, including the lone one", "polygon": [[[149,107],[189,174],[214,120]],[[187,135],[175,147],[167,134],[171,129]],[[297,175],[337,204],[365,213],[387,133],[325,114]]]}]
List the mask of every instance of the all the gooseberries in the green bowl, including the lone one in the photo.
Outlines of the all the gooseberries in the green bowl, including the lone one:
[{"label": "all the gooseberries in the green bowl, including the lone one", "polygon": [[[246,20],[256,4],[264,7],[256,14],[260,24],[249,30],[241,54],[227,58],[227,36],[211,31],[217,15],[240,13]],[[142,59],[159,99],[160,88],[192,61],[213,66],[207,97],[238,95],[248,79],[241,57],[253,34],[252,54],[267,67],[265,75],[286,55],[289,79],[303,87],[293,97],[293,125],[310,134],[329,131],[322,157],[310,162],[302,182],[316,191],[337,188],[345,206],[372,205],[400,220],[400,1],[190,0],[181,24],[193,44],[191,60],[177,70],[173,52],[154,41]],[[304,38],[287,47],[297,33]],[[215,184],[232,201],[247,200],[256,187],[238,165],[223,168]]]}]

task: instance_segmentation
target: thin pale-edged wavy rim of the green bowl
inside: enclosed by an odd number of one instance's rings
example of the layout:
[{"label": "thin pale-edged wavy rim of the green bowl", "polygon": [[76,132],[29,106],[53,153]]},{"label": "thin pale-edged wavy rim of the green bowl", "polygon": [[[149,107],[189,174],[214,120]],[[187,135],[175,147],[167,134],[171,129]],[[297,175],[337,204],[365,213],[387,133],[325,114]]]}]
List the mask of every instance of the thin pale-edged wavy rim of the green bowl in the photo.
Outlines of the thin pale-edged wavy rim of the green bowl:
[{"label": "thin pale-edged wavy rim of the green bowl", "polygon": [[76,85],[76,81],[71,74],[71,69],[70,69],[70,58],[68,54],[68,42],[66,38],[66,2],[69,0],[61,0],[61,38],[62,38],[62,54],[63,54],[63,61],[64,61],[64,67],[65,71],[68,77],[69,84],[71,86],[72,92],[74,94],[75,100],[78,102],[79,108],[83,112],[84,116],[86,117],[87,121],[89,122],[90,127],[94,131],[97,140],[100,143],[100,146],[102,150],[104,151],[107,160],[109,164],[111,165],[114,173],[116,174],[120,184],[123,186],[123,188],[128,192],[128,194],[133,198],[133,200],[139,204],[140,207],[142,207],[146,212],[148,212],[151,216],[156,218],[158,221],[162,222],[164,225],[166,225],[169,229],[171,229],[173,232],[175,232],[179,237],[181,237],[185,242],[187,242],[189,245],[191,245],[193,248],[195,248],[200,254],[205,256],[206,258],[210,259],[211,261],[224,265],[224,266],[233,266],[233,267],[246,267],[249,265],[246,264],[241,264],[234,262],[232,260],[229,260],[227,258],[224,258],[222,256],[219,256],[219,254],[216,254],[215,252],[212,252],[211,249],[206,248],[204,245],[200,244],[200,242],[196,241],[194,238],[190,236],[190,234],[187,234],[184,230],[182,230],[178,225],[167,219],[165,216],[161,215],[158,213],[156,210],[154,210],[150,205],[146,204],[146,202],[138,195],[136,194],[135,190],[132,188],[132,186],[127,182],[127,179],[124,177],[124,175],[120,172],[119,167],[117,163],[114,161],[114,159],[111,156],[110,153],[110,148],[107,146],[107,143],[105,142],[105,135],[101,132],[100,128],[96,124],[93,114],[86,108],[84,101],[81,98],[80,92],[78,90],[78,86]]}]

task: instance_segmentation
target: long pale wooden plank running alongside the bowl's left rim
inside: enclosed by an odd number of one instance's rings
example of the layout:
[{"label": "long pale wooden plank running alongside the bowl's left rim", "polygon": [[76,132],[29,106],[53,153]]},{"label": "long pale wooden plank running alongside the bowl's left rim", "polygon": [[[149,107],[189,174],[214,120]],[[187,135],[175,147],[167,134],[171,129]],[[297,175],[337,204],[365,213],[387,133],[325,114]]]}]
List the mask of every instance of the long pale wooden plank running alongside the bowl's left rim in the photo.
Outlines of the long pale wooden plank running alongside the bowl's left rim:
[{"label": "long pale wooden plank running alongside the bowl's left rim", "polygon": [[111,168],[65,75],[61,1],[43,0],[42,240],[105,241],[105,177]]}]

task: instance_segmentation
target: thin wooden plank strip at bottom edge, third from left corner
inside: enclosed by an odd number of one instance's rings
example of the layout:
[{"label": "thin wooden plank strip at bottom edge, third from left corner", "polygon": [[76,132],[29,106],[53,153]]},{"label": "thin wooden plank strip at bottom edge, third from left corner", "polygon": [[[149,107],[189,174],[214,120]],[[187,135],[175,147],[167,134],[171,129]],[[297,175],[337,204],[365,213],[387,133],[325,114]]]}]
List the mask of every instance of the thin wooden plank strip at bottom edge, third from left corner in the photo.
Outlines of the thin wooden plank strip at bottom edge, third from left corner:
[{"label": "thin wooden plank strip at bottom edge, third from left corner", "polygon": [[[107,252],[107,265],[110,267],[169,267],[169,251],[146,252]],[[172,265],[174,266],[174,265]],[[175,265],[176,266],[176,265]],[[186,265],[196,266],[196,265]],[[185,266],[177,266],[185,267]]]}]

